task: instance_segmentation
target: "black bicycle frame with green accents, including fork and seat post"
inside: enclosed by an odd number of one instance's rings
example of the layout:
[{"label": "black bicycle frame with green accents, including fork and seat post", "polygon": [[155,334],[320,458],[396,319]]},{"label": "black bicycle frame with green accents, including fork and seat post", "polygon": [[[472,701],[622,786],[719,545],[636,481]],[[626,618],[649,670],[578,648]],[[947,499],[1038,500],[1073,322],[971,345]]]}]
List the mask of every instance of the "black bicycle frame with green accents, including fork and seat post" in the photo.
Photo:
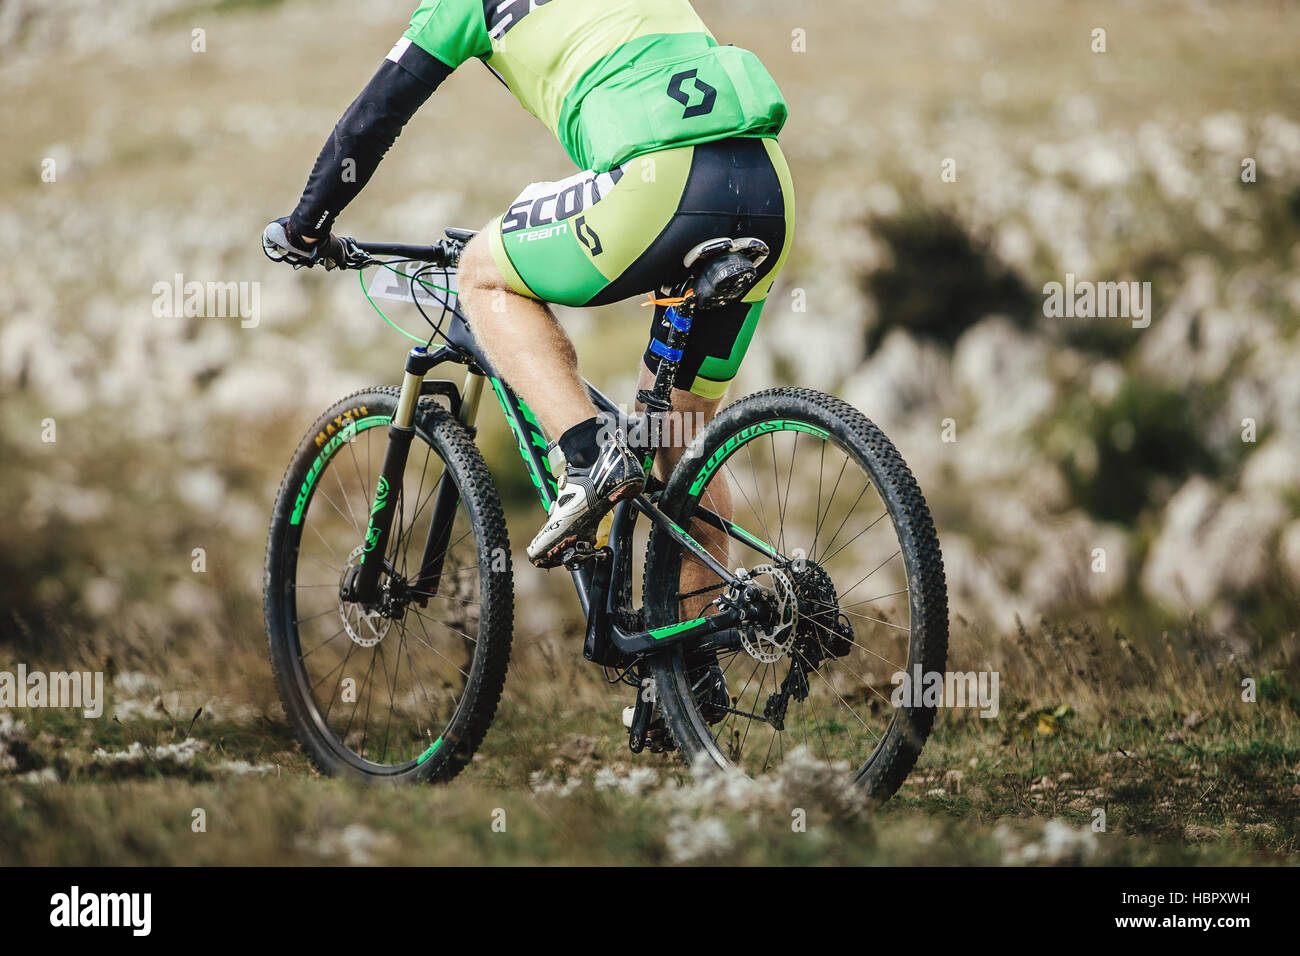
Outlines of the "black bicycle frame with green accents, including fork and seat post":
[{"label": "black bicycle frame with green accents, including fork and seat post", "polygon": [[[654,388],[637,394],[637,399],[646,406],[642,431],[651,436],[645,446],[647,475],[654,466],[659,447],[658,436],[663,433],[664,416],[672,408],[672,385],[690,329],[689,316],[682,316],[675,310],[668,310],[666,321],[672,326],[667,341],[670,352],[659,363]],[[524,459],[524,466],[528,468],[543,507],[549,509],[558,494],[556,480],[551,475],[547,460],[546,437],[537,418],[524,399],[516,395],[493,371],[459,308],[451,313],[450,328],[446,330],[445,338],[447,345],[442,347],[429,351],[424,346],[416,346],[407,355],[402,397],[398,401],[398,411],[389,425],[389,444],[384,455],[384,467],[376,483],[376,494],[370,505],[364,555],[355,576],[344,581],[341,594],[343,600],[380,606],[384,598],[378,584],[381,572],[387,571],[390,576],[396,574],[384,554],[393,528],[395,503],[402,496],[402,476],[406,472],[411,441],[415,437],[416,407],[421,395],[445,395],[451,406],[451,412],[462,424],[472,429],[478,398],[486,381],[497,395],[506,421],[515,434],[520,457]],[[429,372],[448,363],[467,368],[463,389],[446,380],[425,380]],[[602,414],[612,421],[619,420],[620,412],[614,402],[590,384],[588,384],[588,392]],[[443,471],[433,494],[436,497],[420,561],[420,575],[410,585],[410,596],[420,604],[438,593],[442,563],[451,544],[451,529],[460,503],[459,492],[455,484],[447,480],[446,471]],[[742,587],[742,581],[732,571],[719,563],[703,545],[660,511],[650,494],[642,493],[630,501],[621,502],[614,510],[608,548],[569,568],[582,614],[586,618],[584,657],[602,665],[625,665],[646,653],[684,641],[692,641],[701,649],[737,646],[740,636],[736,627],[742,620],[754,622],[753,606],[729,605],[708,617],[651,630],[629,630],[623,626],[633,617],[632,536],[638,514],[644,514],[664,533],[671,535],[682,549],[714,571],[725,584]],[[770,545],[707,509],[699,509],[696,519],[751,548],[758,546],[772,561],[783,559]]]}]

